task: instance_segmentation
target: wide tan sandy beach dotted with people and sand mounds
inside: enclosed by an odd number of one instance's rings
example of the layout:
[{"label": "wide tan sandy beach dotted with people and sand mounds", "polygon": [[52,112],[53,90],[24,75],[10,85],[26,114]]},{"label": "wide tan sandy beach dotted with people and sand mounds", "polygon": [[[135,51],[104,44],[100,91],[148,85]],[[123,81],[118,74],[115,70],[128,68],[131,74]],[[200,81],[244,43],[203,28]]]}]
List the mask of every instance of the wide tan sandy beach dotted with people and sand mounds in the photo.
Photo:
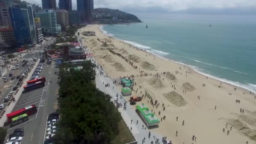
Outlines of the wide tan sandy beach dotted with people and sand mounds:
[{"label": "wide tan sandy beach dotted with people and sand mounds", "polygon": [[120,91],[120,77],[134,75],[132,96],[147,91],[158,101],[158,107],[145,97],[137,102],[153,109],[158,119],[166,117],[151,131],[167,136],[174,144],[256,144],[256,94],[109,37],[99,27],[80,29],[80,33],[96,32],[96,36],[80,34],[83,43],[107,75],[117,80]]}]

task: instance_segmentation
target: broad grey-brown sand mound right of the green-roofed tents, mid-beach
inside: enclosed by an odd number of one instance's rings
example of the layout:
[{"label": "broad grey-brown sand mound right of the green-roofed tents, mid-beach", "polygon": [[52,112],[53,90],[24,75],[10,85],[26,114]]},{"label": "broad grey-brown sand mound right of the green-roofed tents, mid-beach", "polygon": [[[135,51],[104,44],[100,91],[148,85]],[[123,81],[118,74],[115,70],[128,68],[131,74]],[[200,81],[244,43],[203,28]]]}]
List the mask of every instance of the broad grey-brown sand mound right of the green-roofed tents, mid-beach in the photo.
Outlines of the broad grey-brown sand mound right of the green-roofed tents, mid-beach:
[{"label": "broad grey-brown sand mound right of the green-roofed tents, mid-beach", "polygon": [[175,91],[164,93],[163,96],[165,96],[165,98],[168,99],[168,101],[170,101],[177,107],[182,107],[187,104],[187,101],[181,95],[179,95],[179,93],[176,93]]}]

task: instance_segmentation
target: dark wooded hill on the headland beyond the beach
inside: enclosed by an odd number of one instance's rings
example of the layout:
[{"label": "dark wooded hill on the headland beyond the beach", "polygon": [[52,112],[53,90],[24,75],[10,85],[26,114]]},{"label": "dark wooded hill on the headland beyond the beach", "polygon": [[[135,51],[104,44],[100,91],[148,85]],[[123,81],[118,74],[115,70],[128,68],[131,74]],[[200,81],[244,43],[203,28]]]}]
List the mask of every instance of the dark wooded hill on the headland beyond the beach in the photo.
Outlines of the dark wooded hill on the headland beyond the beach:
[{"label": "dark wooded hill on the headland beyond the beach", "polygon": [[96,23],[103,24],[142,22],[137,16],[131,13],[109,8],[95,8],[92,11],[92,19]]}]

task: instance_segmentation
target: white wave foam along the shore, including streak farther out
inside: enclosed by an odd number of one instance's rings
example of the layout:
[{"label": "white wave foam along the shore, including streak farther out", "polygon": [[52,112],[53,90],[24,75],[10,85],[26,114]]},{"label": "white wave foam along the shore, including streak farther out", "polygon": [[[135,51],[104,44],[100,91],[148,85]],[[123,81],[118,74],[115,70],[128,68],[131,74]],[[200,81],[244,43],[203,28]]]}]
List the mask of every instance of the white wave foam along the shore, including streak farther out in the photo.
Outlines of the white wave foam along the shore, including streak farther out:
[{"label": "white wave foam along the shore, including streak farther out", "polygon": [[[99,27],[99,29],[101,29],[101,31],[102,31],[104,34],[106,34],[106,33],[105,33],[106,31],[104,31],[103,28],[104,28],[103,26]],[[107,32],[107,33],[108,33],[108,32]],[[106,34],[106,35],[107,35],[107,34]],[[113,37],[113,36],[111,36],[111,37]],[[117,39],[116,37],[113,37],[113,38]],[[117,39],[117,40],[120,40],[120,39]],[[129,43],[129,44],[131,44],[131,45],[133,45],[133,46],[135,46],[135,47],[141,48],[141,49],[147,49],[147,50],[146,50],[147,52],[152,53],[152,52],[149,51],[151,48],[148,47],[148,46],[140,45],[140,44],[138,44],[138,43],[136,43],[136,42],[132,42],[132,41],[126,41],[126,40],[121,40],[121,41],[123,41],[123,42],[125,42],[125,43]],[[155,53],[153,53],[153,54],[155,54]],[[216,76],[213,76],[213,75],[210,75],[210,74],[205,73],[205,72],[204,72],[205,69],[201,69],[201,68],[198,68],[198,67],[195,67],[195,66],[191,66],[191,65],[189,65],[189,64],[184,64],[184,63],[179,62],[179,61],[173,61],[173,60],[171,60],[171,59],[166,59],[166,58],[164,58],[164,57],[162,57],[162,56],[159,56],[159,55],[156,55],[156,56],[160,57],[161,59],[167,60],[167,61],[172,61],[172,62],[175,62],[175,63],[177,63],[177,64],[182,64],[182,65],[191,67],[191,68],[194,69],[196,72],[198,72],[198,73],[200,73],[200,74],[202,74],[202,75],[205,75],[205,76],[207,76],[207,77],[211,77],[211,78],[213,78],[213,79],[222,81],[222,82],[224,82],[224,83],[229,83],[229,84],[231,84],[231,85],[235,85],[235,86],[237,86],[237,87],[241,87],[241,88],[247,89],[248,91],[252,91],[253,93],[256,93],[256,85],[254,85],[254,84],[251,84],[251,83],[243,84],[243,83],[239,83],[239,82],[234,82],[234,81],[231,81],[231,80],[227,80],[227,79],[224,79],[224,78],[216,77]],[[181,57],[182,57],[182,56],[181,56]],[[195,60],[195,59],[192,59],[192,60],[197,61],[197,62],[201,62],[201,63],[205,63],[205,62],[202,62],[202,61],[199,61],[199,60]],[[208,64],[208,63],[205,63],[205,64]],[[208,64],[208,65],[215,66],[215,67],[219,67],[219,66],[216,66],[216,65],[214,65],[214,64]],[[219,67],[219,68],[229,69],[229,68],[227,68],[227,67]]]}]

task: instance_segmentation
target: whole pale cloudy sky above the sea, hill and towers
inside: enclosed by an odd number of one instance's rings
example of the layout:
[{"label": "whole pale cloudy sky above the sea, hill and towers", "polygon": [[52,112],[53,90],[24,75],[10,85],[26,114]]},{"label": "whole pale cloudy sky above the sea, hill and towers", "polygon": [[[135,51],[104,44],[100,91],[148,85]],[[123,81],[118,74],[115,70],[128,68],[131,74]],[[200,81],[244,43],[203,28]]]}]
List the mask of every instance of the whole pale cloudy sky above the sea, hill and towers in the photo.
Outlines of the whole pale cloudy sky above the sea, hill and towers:
[{"label": "whole pale cloudy sky above the sea, hill and towers", "polygon": [[[27,0],[42,6],[41,0]],[[59,0],[56,0],[58,5]],[[77,1],[72,0],[76,9]],[[154,13],[235,13],[256,14],[256,0],[94,0],[94,8]]]}]

